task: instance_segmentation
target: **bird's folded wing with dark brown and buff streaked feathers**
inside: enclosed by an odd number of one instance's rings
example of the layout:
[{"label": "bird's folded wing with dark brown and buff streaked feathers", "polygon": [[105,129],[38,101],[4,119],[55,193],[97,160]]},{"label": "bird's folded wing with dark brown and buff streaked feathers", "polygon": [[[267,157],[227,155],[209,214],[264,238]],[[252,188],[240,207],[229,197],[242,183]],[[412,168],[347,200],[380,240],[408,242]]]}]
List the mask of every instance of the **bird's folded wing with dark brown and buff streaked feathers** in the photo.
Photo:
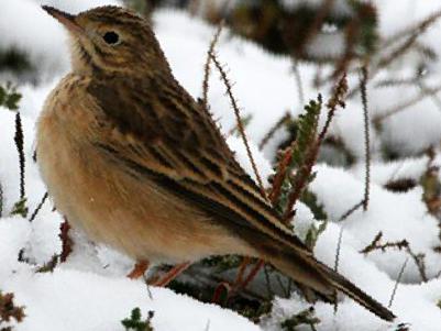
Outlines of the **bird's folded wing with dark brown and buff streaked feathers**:
[{"label": "bird's folded wing with dark brown and buff streaked feathers", "polygon": [[99,130],[108,126],[97,146],[133,176],[147,176],[236,235],[265,233],[310,254],[236,163],[208,111],[178,82],[92,81],[88,92],[103,117]]}]

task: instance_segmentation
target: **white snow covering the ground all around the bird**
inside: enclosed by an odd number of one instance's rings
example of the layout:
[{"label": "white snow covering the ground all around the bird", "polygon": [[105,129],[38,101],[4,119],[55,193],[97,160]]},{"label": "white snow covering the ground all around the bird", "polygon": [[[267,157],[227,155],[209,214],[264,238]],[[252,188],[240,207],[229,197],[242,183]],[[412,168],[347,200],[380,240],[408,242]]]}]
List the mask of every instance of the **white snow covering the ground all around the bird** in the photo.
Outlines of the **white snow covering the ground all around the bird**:
[{"label": "white snow covering the ground all around the bird", "polygon": [[[118,4],[117,0],[3,0],[0,3],[0,48],[15,46],[29,54],[32,64],[38,68],[37,85],[25,82],[19,86],[23,95],[20,112],[27,159],[25,188],[31,211],[45,192],[37,166],[32,162],[35,120],[48,91],[69,69],[66,34],[55,20],[41,10],[43,2],[73,13],[98,4]],[[285,2],[293,5],[297,1]],[[439,0],[401,0],[399,5],[394,0],[375,2],[379,8],[384,36],[390,36],[441,9]],[[184,12],[168,10],[155,13],[154,23],[176,77],[192,96],[199,97],[202,67],[213,27]],[[421,40],[433,49],[441,51],[440,24],[433,25]],[[228,30],[218,44],[218,54],[230,68],[243,115],[253,115],[247,133],[254,144],[287,110],[294,115],[300,113],[296,80],[288,58],[269,55],[251,43],[231,37]],[[378,73],[378,79],[388,75],[406,77],[417,60],[417,56],[410,54],[394,67]],[[436,86],[441,80],[441,62],[431,64],[429,81]],[[312,86],[315,68],[300,64],[299,70],[306,100],[316,98],[319,90]],[[7,76],[0,76],[0,82],[4,79]],[[354,81],[350,79],[351,84]],[[375,80],[371,85],[373,87]],[[320,92],[326,95],[327,90]],[[386,113],[392,106],[405,102],[418,92],[415,87],[372,88],[368,95],[371,115]],[[360,158],[360,164],[350,169],[319,164],[316,167],[317,178],[310,186],[329,219],[334,221],[357,203],[364,191],[363,113],[359,99],[348,101],[346,109],[337,115],[331,133]],[[234,117],[214,70],[209,101],[223,131],[229,132],[234,126]],[[405,250],[376,251],[367,255],[359,253],[382,231],[383,243],[406,239],[415,254],[425,254],[425,277],[428,282],[421,280],[421,271],[410,257],[392,305],[392,310],[398,316],[395,323],[386,323],[349,298],[342,298],[337,313],[331,305],[316,305],[317,317],[321,320],[317,329],[399,330],[397,326],[403,322],[408,323],[410,330],[441,330],[441,308],[437,306],[441,300],[441,254],[433,251],[441,244],[440,220],[428,212],[421,186],[416,185],[406,192],[384,188],[390,179],[411,178],[418,184],[426,172],[428,158],[401,157],[397,162],[384,163],[381,157],[381,145],[387,145],[400,155],[415,154],[431,145],[438,146],[436,151],[439,152],[441,111],[433,99],[428,98],[383,121],[381,134],[375,130],[371,132],[374,164],[370,207],[367,211],[357,210],[343,222],[331,222],[319,238],[315,253],[319,260],[333,266],[342,232],[339,271],[387,306],[409,254]],[[66,263],[58,265],[53,273],[35,273],[36,266],[32,264],[43,265],[60,251],[58,229],[62,218],[52,210],[51,203],[44,205],[32,223],[19,216],[9,216],[20,191],[13,135],[14,113],[0,108],[0,184],[4,202],[3,217],[0,218],[0,290],[14,293],[15,302],[26,307],[25,319],[14,330],[119,331],[123,330],[120,321],[134,307],[140,307],[144,317],[147,311],[154,311],[152,324],[155,331],[279,330],[280,321],[309,307],[297,295],[291,299],[275,299],[272,313],[261,324],[254,324],[233,311],[199,302],[169,289],[152,287],[147,290],[143,282],[125,277],[133,262],[107,247],[91,245],[79,234],[74,254]],[[272,172],[268,159],[282,135],[276,135],[264,153],[257,148],[254,151],[264,177]],[[241,141],[230,137],[229,143],[244,168],[250,169]],[[432,161],[432,166],[441,166],[439,155]],[[309,209],[298,206],[295,225],[299,235],[305,235],[312,222]],[[32,264],[18,261],[22,249]],[[301,330],[309,330],[309,327]]]}]

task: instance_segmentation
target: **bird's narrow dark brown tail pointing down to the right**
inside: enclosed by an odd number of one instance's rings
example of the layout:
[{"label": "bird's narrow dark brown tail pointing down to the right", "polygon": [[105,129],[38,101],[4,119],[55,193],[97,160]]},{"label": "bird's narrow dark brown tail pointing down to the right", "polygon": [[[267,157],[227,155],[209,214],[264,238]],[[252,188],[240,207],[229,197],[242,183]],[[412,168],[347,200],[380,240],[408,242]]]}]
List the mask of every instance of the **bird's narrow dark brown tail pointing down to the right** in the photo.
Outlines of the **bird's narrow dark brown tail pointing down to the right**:
[{"label": "bird's narrow dark brown tail pointing down to the right", "polygon": [[[274,254],[274,250],[277,250],[278,254]],[[297,252],[296,247],[282,244],[282,246],[272,249],[271,260],[277,269],[293,278],[293,280],[312,288],[330,300],[334,300],[335,291],[341,291],[379,318],[386,321],[394,320],[395,316],[389,309],[339,273],[318,262],[312,255]],[[275,256],[277,257],[274,258]]]}]

